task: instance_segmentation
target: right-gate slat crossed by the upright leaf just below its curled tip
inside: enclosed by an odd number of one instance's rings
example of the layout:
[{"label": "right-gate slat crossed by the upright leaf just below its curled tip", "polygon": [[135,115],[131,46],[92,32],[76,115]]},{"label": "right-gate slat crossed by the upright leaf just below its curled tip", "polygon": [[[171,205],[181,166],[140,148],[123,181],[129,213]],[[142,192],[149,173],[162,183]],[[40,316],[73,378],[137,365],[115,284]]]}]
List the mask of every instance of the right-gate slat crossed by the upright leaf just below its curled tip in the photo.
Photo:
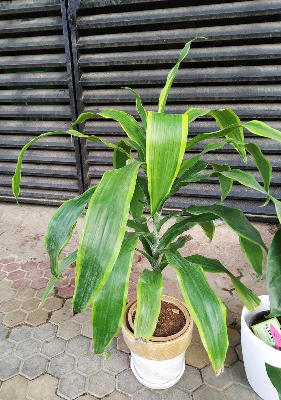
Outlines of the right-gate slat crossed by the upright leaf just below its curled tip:
[{"label": "right-gate slat crossed by the upright leaf just below its curled tip", "polygon": [[[107,52],[97,54],[81,54],[78,63],[87,66],[114,65],[150,65],[175,64],[179,59],[179,49],[143,50],[127,52]],[[251,46],[221,46],[207,48],[191,48],[181,65],[190,62],[268,60],[281,57],[281,44],[253,44]]]}]

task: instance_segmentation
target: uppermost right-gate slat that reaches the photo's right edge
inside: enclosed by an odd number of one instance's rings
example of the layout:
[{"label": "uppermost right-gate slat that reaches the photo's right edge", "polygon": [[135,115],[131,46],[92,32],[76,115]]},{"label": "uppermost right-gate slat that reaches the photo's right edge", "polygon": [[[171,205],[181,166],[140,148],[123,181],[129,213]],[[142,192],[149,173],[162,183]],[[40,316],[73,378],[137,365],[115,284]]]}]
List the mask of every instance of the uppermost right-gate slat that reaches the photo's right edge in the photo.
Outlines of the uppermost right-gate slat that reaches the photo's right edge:
[{"label": "uppermost right-gate slat that reaches the photo's right edge", "polygon": [[116,26],[135,26],[148,24],[173,24],[213,20],[218,18],[241,18],[257,15],[280,14],[279,0],[230,2],[203,6],[158,8],[157,10],[129,11],[111,14],[79,16],[78,29],[96,29]]}]

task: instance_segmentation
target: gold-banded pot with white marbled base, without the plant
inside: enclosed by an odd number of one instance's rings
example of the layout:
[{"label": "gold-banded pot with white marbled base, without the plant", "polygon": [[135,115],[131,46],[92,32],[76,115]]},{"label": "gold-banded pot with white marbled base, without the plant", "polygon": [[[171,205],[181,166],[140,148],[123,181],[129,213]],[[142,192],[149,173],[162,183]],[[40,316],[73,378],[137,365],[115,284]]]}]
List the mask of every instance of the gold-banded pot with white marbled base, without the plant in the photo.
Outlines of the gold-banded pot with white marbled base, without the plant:
[{"label": "gold-banded pot with white marbled base, without the plant", "polygon": [[193,330],[193,319],[185,304],[176,297],[163,295],[163,300],[174,302],[185,309],[187,328],[177,338],[167,336],[165,341],[144,343],[135,342],[134,334],[128,322],[128,312],[136,303],[132,300],[127,304],[122,322],[122,334],[126,345],[131,351],[130,366],[136,378],[151,389],[166,389],[173,386],[181,378],[185,370],[185,350],[188,348]]}]

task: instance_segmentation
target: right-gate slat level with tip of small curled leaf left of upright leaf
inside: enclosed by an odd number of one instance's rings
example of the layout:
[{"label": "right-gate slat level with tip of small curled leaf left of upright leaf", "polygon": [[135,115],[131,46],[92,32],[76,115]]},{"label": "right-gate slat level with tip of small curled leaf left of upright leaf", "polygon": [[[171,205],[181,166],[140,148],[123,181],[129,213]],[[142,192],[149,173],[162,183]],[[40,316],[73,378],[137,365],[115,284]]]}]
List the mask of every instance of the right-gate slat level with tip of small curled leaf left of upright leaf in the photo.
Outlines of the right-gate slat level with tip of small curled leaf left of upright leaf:
[{"label": "right-gate slat level with tip of small curled leaf left of upright leaf", "polygon": [[[139,88],[138,94],[146,102],[158,102],[161,88]],[[230,100],[281,100],[281,85],[254,86],[198,86],[174,87],[169,92],[171,102],[190,101],[230,101]],[[82,101],[91,102],[135,102],[129,90],[98,89],[84,90]]]}]

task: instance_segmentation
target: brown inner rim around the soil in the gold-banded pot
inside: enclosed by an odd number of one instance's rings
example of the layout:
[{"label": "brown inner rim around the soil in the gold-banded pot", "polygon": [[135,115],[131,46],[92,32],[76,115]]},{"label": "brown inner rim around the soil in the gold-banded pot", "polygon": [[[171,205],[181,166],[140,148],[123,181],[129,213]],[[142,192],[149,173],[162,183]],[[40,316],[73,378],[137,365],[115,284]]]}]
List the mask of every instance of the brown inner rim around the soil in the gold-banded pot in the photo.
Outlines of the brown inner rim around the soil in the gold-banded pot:
[{"label": "brown inner rim around the soil in the gold-banded pot", "polygon": [[[152,336],[151,339],[149,340],[150,342],[170,342],[170,340],[176,339],[179,336],[181,336],[183,333],[185,333],[185,331],[187,330],[187,328],[190,325],[191,319],[190,319],[190,314],[189,314],[189,311],[187,310],[187,307],[182,302],[180,302],[177,298],[173,298],[173,301],[169,300],[172,297],[173,296],[170,296],[169,294],[163,294],[161,301],[165,301],[167,303],[172,303],[176,307],[180,308],[180,310],[183,312],[183,314],[185,316],[185,326],[181,330],[179,330],[179,332],[177,332],[173,335]],[[135,310],[136,310],[136,300],[132,303],[132,305],[128,309],[128,323],[129,323],[130,327],[132,328],[132,330],[134,330],[134,324],[132,322],[132,315]]]}]

